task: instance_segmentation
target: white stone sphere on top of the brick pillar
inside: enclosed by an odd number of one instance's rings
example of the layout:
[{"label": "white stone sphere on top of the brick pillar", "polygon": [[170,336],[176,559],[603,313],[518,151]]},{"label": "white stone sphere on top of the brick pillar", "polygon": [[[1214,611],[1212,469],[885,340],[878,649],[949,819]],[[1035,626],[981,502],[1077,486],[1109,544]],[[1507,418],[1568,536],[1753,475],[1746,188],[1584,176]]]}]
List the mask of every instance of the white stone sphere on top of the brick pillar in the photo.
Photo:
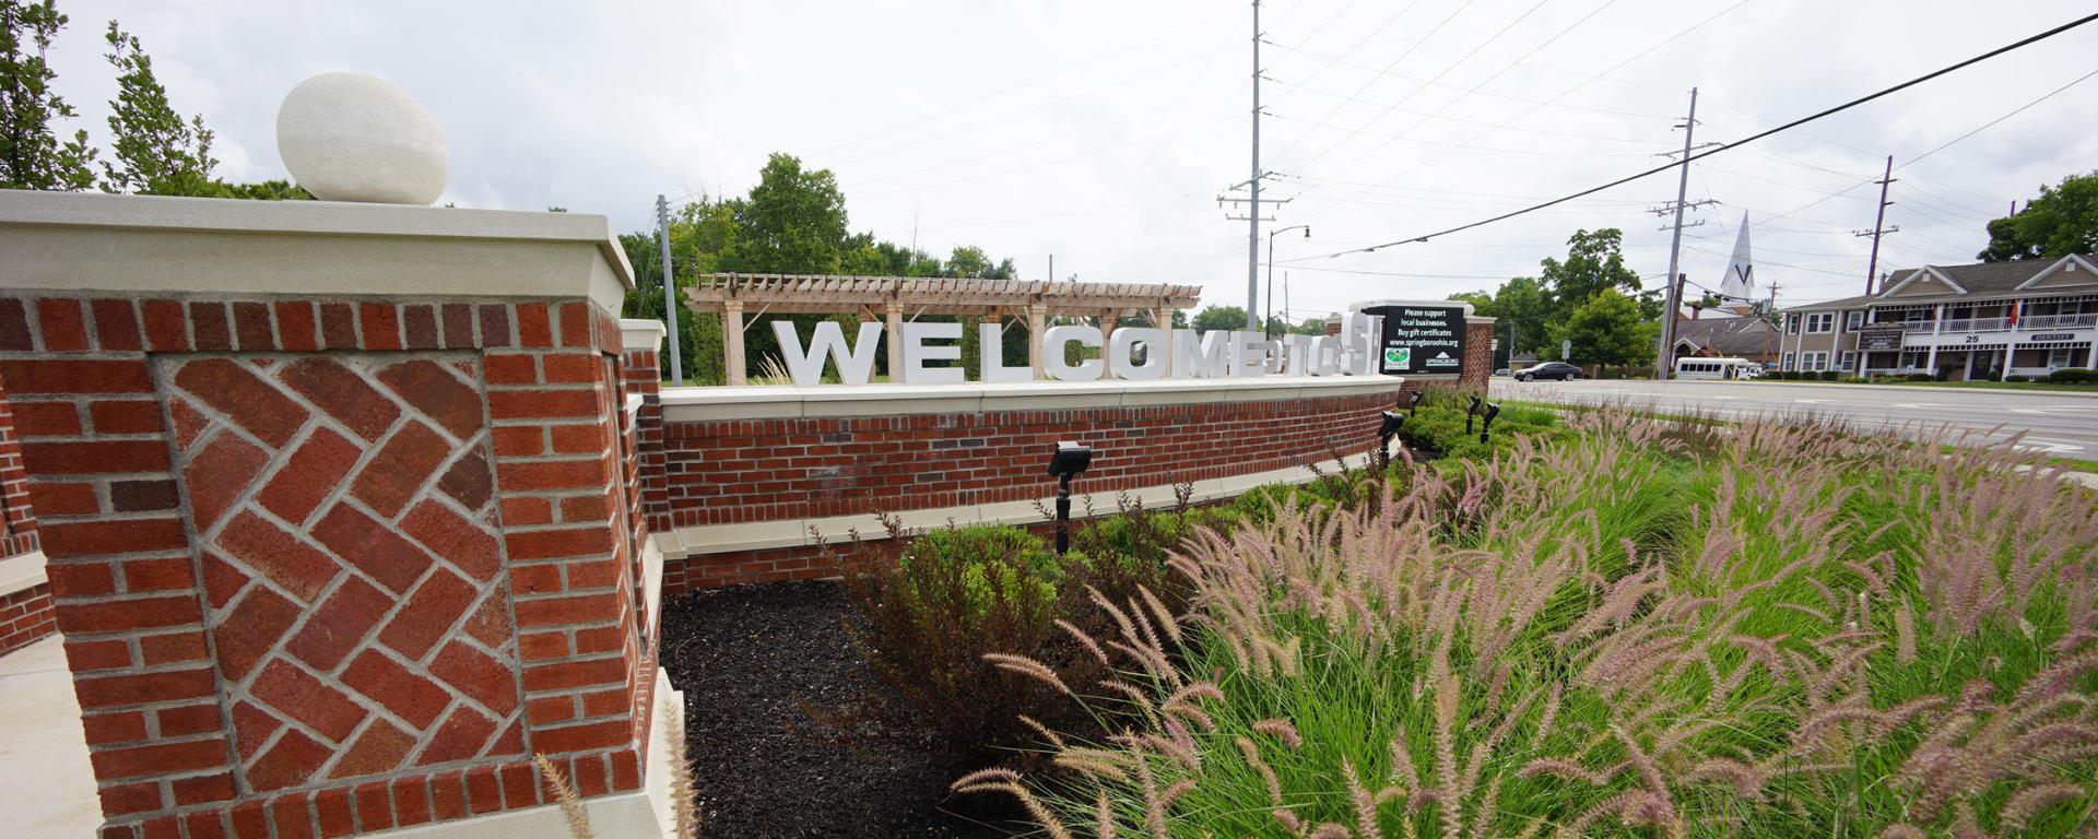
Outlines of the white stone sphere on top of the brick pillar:
[{"label": "white stone sphere on top of the brick pillar", "polygon": [[430,206],[451,174],[430,111],[365,73],[321,73],[292,88],[277,107],[277,155],[323,201]]}]

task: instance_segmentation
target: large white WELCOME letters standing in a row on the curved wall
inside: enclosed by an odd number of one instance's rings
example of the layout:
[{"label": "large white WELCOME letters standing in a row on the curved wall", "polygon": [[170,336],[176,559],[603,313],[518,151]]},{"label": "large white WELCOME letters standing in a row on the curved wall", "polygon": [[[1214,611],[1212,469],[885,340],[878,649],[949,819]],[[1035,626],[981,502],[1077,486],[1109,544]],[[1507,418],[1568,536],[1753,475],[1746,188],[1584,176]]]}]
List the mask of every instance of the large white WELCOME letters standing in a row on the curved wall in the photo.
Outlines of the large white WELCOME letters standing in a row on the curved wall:
[{"label": "large white WELCOME letters standing in a row on the curved wall", "polygon": [[[980,323],[982,346],[1001,346],[1001,325]],[[791,321],[772,321],[787,375],[797,386],[822,384],[825,365],[837,367],[841,384],[869,384],[875,373],[875,352],[883,340],[879,323],[860,323],[856,340],[848,342],[837,321],[814,325],[808,342]],[[1253,375],[1378,375],[1383,352],[1378,340],[1383,319],[1351,313],[1341,319],[1339,336],[1280,336],[1259,331],[1125,327],[1101,336],[1089,325],[1043,329],[1043,373],[1057,382],[1114,380],[1213,380]],[[904,323],[902,384],[961,384],[961,323]],[[1095,359],[1070,363],[1064,348],[1078,344],[1099,350]],[[980,382],[1032,382],[1032,367],[1007,367],[999,352],[982,352]],[[940,365],[934,365],[940,363]],[[1454,369],[1450,369],[1454,371]]]}]

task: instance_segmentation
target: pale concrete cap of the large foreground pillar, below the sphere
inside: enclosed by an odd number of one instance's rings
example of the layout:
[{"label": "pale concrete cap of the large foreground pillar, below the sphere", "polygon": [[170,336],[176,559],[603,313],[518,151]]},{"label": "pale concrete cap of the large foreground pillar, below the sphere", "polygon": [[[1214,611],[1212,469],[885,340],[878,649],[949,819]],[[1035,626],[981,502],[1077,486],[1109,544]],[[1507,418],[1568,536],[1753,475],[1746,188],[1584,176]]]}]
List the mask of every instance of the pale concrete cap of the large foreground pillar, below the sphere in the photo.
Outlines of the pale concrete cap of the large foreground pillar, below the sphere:
[{"label": "pale concrete cap of the large foreground pillar, below the sphere", "polygon": [[174,294],[583,298],[634,266],[577,212],[0,189],[0,287]]}]

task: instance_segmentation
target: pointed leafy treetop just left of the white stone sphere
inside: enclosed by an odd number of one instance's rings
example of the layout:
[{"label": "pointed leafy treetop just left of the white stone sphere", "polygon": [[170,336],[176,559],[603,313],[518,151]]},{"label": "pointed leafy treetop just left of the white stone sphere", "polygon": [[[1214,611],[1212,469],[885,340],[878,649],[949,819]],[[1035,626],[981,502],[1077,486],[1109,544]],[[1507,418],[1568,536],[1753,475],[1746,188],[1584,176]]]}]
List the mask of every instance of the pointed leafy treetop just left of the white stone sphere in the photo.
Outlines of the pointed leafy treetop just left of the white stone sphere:
[{"label": "pointed leafy treetop just left of the white stone sphere", "polygon": [[145,195],[222,195],[212,182],[212,130],[204,115],[183,120],[168,105],[168,88],[153,76],[153,57],[138,36],[109,21],[109,65],[117,71],[117,99],[109,101],[115,162],[103,164],[103,189]]}]

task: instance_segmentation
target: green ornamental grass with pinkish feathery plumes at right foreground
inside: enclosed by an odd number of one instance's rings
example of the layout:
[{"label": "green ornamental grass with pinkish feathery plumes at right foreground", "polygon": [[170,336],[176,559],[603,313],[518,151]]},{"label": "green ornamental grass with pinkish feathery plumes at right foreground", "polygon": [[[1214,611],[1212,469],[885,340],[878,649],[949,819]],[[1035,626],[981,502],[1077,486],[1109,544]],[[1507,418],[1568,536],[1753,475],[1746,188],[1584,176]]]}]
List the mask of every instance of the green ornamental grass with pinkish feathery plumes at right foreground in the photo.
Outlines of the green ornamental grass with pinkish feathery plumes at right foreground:
[{"label": "green ornamental grass with pinkish feathery plumes at right foreground", "polygon": [[[1091,598],[1070,837],[2092,835],[2094,495],[2010,449],[1624,411],[1202,529]],[[1036,763],[1039,763],[1036,761]]]}]

